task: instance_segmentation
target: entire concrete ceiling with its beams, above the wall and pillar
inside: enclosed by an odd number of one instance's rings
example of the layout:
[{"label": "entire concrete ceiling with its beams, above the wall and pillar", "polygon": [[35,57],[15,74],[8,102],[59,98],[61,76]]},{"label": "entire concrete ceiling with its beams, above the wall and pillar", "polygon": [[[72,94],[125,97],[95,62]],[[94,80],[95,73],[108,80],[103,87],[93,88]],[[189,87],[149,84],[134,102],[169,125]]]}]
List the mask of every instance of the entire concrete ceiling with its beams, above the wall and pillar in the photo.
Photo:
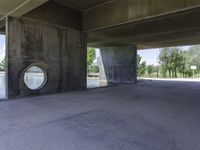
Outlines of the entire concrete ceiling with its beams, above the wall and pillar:
[{"label": "entire concrete ceiling with its beams, above the wall and pillar", "polygon": [[[137,45],[144,49],[200,42],[199,0],[46,1],[29,0],[10,15],[83,30],[92,47]],[[23,2],[1,0],[0,14]]]}]

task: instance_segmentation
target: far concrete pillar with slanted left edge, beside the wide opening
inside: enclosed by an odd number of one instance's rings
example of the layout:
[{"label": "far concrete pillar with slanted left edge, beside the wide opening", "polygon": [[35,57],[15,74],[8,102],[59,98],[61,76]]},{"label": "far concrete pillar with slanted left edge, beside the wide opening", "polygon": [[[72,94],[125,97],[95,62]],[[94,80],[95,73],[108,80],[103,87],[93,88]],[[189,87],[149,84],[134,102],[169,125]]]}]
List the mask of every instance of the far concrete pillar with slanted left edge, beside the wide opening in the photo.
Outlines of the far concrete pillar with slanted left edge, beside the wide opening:
[{"label": "far concrete pillar with slanted left edge, beside the wide opening", "polygon": [[100,78],[108,83],[134,83],[137,77],[136,46],[100,48]]}]

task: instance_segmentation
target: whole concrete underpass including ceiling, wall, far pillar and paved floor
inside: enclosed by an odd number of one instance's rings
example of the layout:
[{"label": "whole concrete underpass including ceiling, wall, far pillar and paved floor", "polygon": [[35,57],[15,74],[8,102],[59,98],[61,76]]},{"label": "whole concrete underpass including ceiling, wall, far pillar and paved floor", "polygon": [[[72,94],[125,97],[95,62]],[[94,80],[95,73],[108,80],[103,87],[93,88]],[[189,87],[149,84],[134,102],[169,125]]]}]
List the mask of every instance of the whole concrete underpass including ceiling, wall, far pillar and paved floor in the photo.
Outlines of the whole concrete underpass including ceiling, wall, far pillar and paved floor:
[{"label": "whole concrete underpass including ceiling, wall, far pillar and paved floor", "polygon": [[[199,0],[1,0],[0,149],[199,150],[200,83],[137,82],[136,65],[137,50],[199,44],[199,16]],[[111,87],[87,90],[87,47]]]}]

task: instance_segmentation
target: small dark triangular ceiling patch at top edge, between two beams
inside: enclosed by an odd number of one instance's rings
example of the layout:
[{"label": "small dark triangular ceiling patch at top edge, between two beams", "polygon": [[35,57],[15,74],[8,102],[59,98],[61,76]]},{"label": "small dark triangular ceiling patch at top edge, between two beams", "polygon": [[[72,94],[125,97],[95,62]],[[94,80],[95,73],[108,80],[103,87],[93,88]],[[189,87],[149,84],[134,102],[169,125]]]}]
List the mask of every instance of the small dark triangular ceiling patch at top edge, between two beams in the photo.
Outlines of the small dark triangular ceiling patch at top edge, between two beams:
[{"label": "small dark triangular ceiling patch at top edge, between two beams", "polygon": [[105,2],[113,1],[113,0],[55,0],[58,3],[64,4],[66,6],[73,7],[75,9],[84,11],[91,7],[95,7],[97,5],[101,5]]}]

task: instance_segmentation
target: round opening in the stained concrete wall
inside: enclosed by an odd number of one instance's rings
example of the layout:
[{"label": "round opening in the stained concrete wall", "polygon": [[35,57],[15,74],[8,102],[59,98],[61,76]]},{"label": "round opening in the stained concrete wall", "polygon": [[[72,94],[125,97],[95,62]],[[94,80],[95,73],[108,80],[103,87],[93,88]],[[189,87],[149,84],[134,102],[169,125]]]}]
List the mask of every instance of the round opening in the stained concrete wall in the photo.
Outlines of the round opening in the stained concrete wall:
[{"label": "round opening in the stained concrete wall", "polygon": [[40,67],[32,66],[24,73],[24,83],[31,90],[41,89],[47,81],[47,75]]}]

